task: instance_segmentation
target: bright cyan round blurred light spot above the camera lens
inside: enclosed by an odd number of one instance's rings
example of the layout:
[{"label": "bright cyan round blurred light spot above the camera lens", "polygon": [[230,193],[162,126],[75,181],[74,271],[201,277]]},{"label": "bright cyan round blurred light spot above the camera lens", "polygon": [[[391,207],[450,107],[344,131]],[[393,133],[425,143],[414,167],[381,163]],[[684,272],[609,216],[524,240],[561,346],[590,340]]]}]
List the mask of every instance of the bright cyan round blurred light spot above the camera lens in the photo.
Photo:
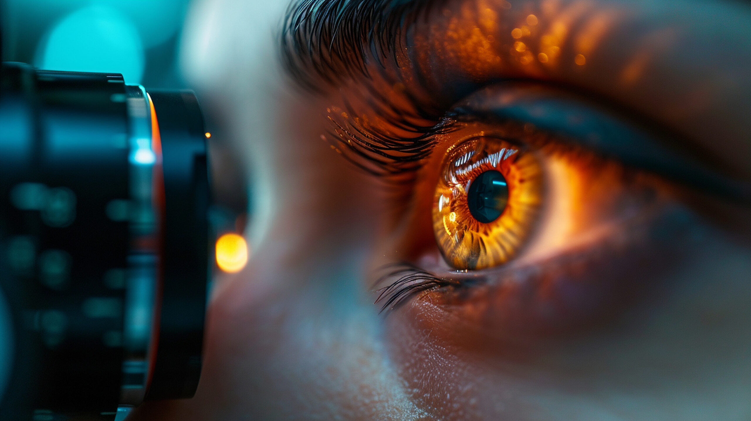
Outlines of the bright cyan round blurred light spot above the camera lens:
[{"label": "bright cyan round blurred light spot above the camera lens", "polygon": [[89,6],[63,18],[39,44],[35,65],[59,71],[122,73],[140,83],[145,56],[138,29],[113,8]]}]

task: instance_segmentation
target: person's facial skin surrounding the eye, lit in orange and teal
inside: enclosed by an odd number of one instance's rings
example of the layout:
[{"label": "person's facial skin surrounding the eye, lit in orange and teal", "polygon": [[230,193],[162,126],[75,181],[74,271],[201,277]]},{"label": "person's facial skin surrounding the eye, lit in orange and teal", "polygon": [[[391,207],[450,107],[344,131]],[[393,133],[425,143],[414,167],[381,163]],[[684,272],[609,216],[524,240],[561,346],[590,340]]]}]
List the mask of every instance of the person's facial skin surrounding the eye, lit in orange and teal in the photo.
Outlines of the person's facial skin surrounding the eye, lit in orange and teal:
[{"label": "person's facial skin surrounding the eye, lit in orange and teal", "polygon": [[[641,268],[659,287],[602,329],[520,356],[440,291],[379,314],[375,268],[440,255],[430,209],[445,152],[497,128],[439,136],[411,198],[394,200],[330,143],[333,107],[372,114],[361,92],[383,80],[298,89],[275,50],[286,5],[272,3],[192,10],[186,76],[250,169],[252,256],[217,281],[195,398],[147,403],[133,419],[749,419],[751,212],[686,186],[668,189],[689,215],[681,264]],[[748,182],[749,22],[738,2],[452,0],[421,18],[403,68],[385,73],[419,74],[432,89],[419,95],[445,101],[504,78],[573,89],[680,134]]]}]

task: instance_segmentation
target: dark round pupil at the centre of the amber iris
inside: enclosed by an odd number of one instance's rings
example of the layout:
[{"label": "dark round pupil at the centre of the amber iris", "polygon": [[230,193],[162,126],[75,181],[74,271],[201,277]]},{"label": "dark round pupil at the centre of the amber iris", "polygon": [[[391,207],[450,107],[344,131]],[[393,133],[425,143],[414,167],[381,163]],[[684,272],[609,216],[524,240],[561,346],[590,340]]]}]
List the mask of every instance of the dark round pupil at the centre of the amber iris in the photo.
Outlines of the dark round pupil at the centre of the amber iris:
[{"label": "dark round pupil at the centre of the amber iris", "polygon": [[496,170],[481,173],[469,185],[467,204],[469,213],[475,219],[488,224],[495,221],[503,213],[508,203],[508,185],[503,174]]}]

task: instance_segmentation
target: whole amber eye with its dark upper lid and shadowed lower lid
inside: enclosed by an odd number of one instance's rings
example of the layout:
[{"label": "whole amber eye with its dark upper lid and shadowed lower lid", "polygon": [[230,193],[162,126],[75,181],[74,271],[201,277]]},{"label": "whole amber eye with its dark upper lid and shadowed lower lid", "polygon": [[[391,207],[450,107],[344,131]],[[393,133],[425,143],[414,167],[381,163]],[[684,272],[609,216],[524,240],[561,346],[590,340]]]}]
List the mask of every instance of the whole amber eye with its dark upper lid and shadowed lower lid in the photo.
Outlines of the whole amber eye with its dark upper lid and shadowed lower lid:
[{"label": "whole amber eye with its dark upper lid and shadowed lower lid", "polygon": [[601,326],[701,255],[698,203],[748,201],[701,154],[562,89],[500,83],[448,115],[402,243],[421,245],[379,280],[383,310],[427,300],[515,340]]}]

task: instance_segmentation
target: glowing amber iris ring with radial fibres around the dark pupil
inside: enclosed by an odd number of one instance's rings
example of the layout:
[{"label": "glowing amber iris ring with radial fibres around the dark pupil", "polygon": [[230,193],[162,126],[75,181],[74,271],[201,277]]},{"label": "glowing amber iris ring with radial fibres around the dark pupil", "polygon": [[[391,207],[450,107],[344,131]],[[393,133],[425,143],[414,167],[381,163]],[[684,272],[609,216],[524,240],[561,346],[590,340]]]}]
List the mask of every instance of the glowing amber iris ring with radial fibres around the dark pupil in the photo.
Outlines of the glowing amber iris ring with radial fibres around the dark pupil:
[{"label": "glowing amber iris ring with radial fibres around the dark pupil", "polygon": [[[488,171],[501,173],[508,201],[492,221],[469,209],[472,182]],[[475,137],[454,146],[441,167],[433,200],[433,232],[445,260],[456,269],[485,269],[519,251],[541,205],[542,170],[532,152],[508,140]]]}]

